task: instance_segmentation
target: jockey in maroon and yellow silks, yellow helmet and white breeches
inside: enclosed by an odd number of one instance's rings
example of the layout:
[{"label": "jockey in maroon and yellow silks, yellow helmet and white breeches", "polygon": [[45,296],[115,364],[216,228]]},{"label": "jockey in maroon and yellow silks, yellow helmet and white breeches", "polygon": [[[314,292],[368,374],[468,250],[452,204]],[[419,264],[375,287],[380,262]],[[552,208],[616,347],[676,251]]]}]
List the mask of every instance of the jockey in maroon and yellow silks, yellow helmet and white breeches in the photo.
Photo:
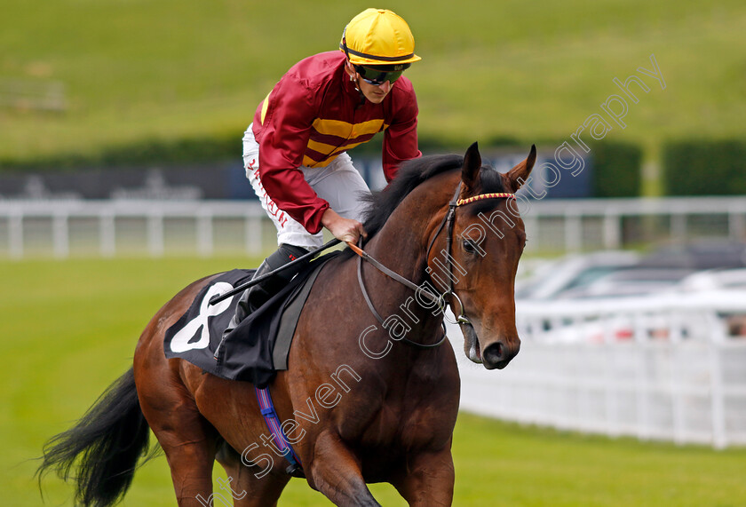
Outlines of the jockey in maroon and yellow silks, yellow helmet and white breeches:
[{"label": "jockey in maroon and yellow silks, yellow helmet and white breeches", "polygon": [[[243,136],[243,162],[277,228],[279,249],[255,277],[321,247],[322,227],[343,242],[366,235],[361,194],[369,188],[345,152],[383,131],[389,182],[401,162],[422,155],[417,98],[401,75],[419,59],[406,21],[391,11],[367,9],[345,27],[339,51],[301,60],[259,104]],[[226,334],[303,267],[294,265],[247,289]]]}]

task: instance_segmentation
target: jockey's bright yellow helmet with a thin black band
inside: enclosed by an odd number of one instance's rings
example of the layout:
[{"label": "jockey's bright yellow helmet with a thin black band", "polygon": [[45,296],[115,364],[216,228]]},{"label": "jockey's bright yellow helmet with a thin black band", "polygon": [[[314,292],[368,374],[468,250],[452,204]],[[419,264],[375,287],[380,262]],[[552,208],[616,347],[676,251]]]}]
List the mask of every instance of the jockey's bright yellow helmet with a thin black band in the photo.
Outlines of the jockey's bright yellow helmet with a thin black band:
[{"label": "jockey's bright yellow helmet with a thin black band", "polygon": [[385,9],[355,16],[342,32],[339,50],[353,65],[399,66],[420,59],[407,21]]}]

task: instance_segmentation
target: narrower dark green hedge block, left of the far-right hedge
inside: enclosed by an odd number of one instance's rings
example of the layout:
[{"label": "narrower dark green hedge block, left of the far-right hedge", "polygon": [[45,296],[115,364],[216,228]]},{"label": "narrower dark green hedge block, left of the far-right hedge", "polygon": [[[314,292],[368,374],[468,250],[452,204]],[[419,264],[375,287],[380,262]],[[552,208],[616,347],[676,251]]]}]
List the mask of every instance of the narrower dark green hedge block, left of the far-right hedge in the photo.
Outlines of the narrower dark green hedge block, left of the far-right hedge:
[{"label": "narrower dark green hedge block, left of the far-right hedge", "polygon": [[641,193],[642,148],[604,141],[591,147],[593,197],[638,197]]}]

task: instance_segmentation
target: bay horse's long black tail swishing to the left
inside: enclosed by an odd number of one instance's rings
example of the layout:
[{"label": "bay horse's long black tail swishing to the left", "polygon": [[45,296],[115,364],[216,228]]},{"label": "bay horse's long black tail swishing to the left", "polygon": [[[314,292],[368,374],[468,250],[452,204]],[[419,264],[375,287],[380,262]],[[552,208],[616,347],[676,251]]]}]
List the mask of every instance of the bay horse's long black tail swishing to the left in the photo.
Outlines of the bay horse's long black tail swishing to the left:
[{"label": "bay horse's long black tail swishing to the left", "polygon": [[147,454],[148,440],[149,428],[130,368],[78,424],[46,443],[44,463],[36,473],[41,480],[44,473],[55,470],[67,480],[75,466],[75,500],[86,507],[107,507],[130,487],[139,458]]}]

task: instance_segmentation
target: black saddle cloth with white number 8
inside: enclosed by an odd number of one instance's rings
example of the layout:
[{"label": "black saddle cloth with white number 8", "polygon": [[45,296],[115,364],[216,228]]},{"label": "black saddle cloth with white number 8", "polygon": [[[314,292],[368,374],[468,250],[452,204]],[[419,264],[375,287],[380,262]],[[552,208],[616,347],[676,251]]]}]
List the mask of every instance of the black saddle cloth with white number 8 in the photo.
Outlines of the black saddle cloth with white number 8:
[{"label": "black saddle cloth with white number 8", "polygon": [[187,313],[166,330],[166,357],[187,360],[216,376],[266,387],[277,370],[287,369],[290,342],[308,292],[321,266],[337,254],[314,260],[265,305],[250,313],[222,343],[223,330],[233,318],[241,294],[216,305],[209,305],[210,298],[250,281],[256,270],[234,269],[220,274],[194,297]]}]

